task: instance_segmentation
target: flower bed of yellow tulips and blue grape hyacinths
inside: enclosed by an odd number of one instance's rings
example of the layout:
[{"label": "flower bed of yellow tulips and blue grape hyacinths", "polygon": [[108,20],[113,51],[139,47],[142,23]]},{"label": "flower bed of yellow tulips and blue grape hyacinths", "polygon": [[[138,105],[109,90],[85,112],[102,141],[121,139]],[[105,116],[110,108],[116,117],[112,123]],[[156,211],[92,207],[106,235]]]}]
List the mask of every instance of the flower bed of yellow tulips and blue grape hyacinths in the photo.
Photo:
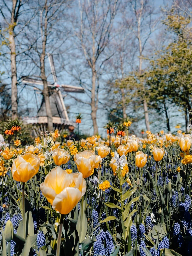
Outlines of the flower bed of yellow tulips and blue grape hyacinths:
[{"label": "flower bed of yellow tulips and blue grape hyacinths", "polygon": [[191,134],[136,137],[130,125],[1,145],[2,256],[191,255]]}]

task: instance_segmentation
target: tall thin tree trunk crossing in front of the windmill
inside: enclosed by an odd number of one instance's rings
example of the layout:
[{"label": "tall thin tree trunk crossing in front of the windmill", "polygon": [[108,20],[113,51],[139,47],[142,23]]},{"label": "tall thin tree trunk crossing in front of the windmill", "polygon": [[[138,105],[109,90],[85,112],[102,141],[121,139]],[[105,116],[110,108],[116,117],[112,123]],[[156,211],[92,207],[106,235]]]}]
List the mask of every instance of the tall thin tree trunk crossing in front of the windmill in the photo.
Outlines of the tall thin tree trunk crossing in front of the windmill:
[{"label": "tall thin tree trunk crossing in front of the windmill", "polygon": [[[47,86],[47,77],[45,74],[45,49],[46,49],[46,43],[47,43],[47,14],[48,14],[48,7],[47,7],[47,1],[45,2],[45,27],[44,27],[44,39],[42,40],[42,53],[40,58],[41,63],[41,79],[43,82],[43,96],[45,99],[45,108],[46,108],[46,114],[47,114],[47,125],[48,125],[48,131],[53,130],[53,121],[52,121],[52,113],[51,113],[51,106],[49,101],[49,90]],[[43,38],[43,25],[41,24],[41,36]]]}]

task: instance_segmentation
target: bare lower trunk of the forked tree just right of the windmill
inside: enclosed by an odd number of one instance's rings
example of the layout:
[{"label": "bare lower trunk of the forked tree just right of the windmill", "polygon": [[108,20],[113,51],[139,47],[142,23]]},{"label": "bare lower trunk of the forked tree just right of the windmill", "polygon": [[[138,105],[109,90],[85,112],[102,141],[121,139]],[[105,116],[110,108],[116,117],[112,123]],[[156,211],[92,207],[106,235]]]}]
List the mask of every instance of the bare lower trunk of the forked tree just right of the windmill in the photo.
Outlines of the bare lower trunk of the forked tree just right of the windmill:
[{"label": "bare lower trunk of the forked tree just right of the windmill", "polygon": [[98,134],[98,126],[97,126],[97,106],[95,106],[95,82],[96,82],[96,71],[95,64],[92,67],[92,89],[91,89],[91,118],[93,121],[93,132],[94,135]]}]

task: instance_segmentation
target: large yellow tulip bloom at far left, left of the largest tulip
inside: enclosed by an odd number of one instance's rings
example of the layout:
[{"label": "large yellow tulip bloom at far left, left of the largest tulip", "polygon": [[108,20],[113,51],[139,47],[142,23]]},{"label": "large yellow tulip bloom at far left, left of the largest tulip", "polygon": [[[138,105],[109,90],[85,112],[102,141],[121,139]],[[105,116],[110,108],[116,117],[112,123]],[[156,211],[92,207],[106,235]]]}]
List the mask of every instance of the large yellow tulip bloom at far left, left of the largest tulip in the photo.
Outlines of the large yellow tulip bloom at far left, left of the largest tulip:
[{"label": "large yellow tulip bloom at far left, left of the largest tulip", "polygon": [[13,179],[20,182],[27,182],[38,173],[40,158],[37,155],[26,153],[13,160],[11,168]]}]

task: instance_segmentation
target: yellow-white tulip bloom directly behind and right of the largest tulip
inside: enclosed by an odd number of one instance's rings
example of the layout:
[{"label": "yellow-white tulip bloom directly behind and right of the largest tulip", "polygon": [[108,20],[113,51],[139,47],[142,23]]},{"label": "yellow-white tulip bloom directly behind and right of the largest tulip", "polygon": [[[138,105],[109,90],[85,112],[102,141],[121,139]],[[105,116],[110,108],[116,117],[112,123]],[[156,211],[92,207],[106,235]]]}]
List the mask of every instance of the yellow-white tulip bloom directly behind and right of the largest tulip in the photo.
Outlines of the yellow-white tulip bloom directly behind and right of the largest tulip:
[{"label": "yellow-white tulip bloom directly behind and right of the largest tulip", "polygon": [[83,178],[87,178],[92,174],[93,169],[96,168],[95,165],[99,165],[100,159],[97,159],[98,161],[96,161],[95,154],[90,150],[84,150],[83,152],[77,153],[74,157],[77,169],[83,174]]}]

